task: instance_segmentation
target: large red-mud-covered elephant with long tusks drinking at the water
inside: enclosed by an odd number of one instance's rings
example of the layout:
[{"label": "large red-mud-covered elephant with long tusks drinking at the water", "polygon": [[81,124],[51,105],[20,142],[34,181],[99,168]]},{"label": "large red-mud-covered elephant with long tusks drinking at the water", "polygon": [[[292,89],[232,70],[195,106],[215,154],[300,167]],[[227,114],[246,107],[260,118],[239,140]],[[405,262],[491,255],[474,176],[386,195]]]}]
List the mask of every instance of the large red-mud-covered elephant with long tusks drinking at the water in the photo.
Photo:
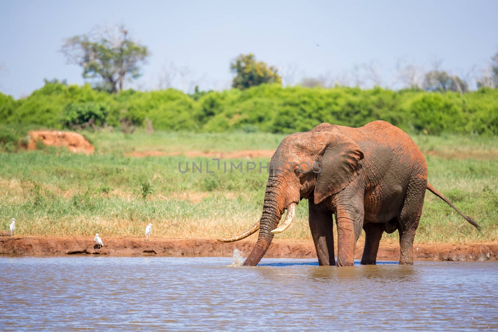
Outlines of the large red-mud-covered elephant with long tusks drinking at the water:
[{"label": "large red-mud-covered elephant with long tusks drinking at the water", "polygon": [[[283,138],[270,165],[259,221],[238,236],[218,239],[233,242],[259,230],[245,266],[257,265],[274,234],[290,225],[302,199],[308,200],[319,265],[352,266],[362,228],[361,264],[375,264],[382,233],[396,229],[399,264],[413,264],[413,240],[426,189],[481,229],[427,182],[427,164],[420,149],[408,134],[386,121],[359,128],[321,123],[310,131],[293,133]],[[285,210],[285,219],[278,225]]]}]

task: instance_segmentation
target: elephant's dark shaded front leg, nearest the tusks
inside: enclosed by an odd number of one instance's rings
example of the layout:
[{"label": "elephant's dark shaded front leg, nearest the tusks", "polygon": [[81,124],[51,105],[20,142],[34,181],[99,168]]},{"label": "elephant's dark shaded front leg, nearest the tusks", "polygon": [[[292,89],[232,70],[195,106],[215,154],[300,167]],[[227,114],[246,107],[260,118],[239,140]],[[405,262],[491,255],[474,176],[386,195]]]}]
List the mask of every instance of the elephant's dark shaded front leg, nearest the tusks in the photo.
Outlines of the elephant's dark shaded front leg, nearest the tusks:
[{"label": "elephant's dark shaded front leg, nearest the tusks", "polygon": [[308,201],[308,218],[319,265],[335,265],[332,212]]}]

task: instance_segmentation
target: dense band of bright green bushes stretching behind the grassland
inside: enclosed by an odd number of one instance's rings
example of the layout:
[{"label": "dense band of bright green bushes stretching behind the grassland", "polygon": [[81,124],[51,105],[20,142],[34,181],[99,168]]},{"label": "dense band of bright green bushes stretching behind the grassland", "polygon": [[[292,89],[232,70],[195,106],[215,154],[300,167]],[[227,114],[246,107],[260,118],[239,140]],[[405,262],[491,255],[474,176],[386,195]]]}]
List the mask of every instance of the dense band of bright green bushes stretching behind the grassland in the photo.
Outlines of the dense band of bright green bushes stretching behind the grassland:
[{"label": "dense band of bright green bushes stretching behind the grassland", "polygon": [[[417,89],[284,88],[262,84],[187,95],[175,89],[108,94],[89,85],[46,82],[23,100],[0,94],[0,122],[48,128],[98,123],[154,129],[275,133],[306,131],[321,122],[353,127],[385,120],[409,133],[498,135],[498,90],[461,95]],[[62,121],[61,121],[62,119]],[[97,124],[97,123],[96,123]]]}]

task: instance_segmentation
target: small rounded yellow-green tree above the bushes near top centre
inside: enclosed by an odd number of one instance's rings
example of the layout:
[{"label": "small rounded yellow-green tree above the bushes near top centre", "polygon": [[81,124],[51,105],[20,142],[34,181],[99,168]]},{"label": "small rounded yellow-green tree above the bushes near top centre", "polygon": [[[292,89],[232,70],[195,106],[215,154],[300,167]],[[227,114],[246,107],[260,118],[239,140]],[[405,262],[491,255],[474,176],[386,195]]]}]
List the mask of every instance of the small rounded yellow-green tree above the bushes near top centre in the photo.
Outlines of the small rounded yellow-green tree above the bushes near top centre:
[{"label": "small rounded yellow-green tree above the bushes near top centre", "polygon": [[278,75],[278,69],[269,66],[262,61],[256,61],[254,54],[241,54],[230,64],[230,70],[236,74],[232,81],[232,87],[237,89],[248,89],[263,83],[282,83]]}]

